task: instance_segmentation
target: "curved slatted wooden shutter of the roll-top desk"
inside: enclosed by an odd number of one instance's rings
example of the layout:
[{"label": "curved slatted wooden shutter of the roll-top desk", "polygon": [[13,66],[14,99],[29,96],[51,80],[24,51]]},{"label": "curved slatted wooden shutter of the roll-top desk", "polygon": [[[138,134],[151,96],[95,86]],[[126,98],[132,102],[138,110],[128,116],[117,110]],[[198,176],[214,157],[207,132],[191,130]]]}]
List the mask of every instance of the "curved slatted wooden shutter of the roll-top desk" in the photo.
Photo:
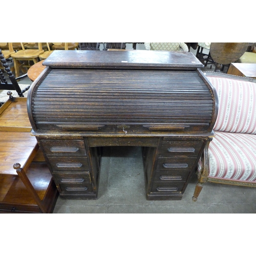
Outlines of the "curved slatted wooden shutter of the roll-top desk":
[{"label": "curved slatted wooden shutter of the roll-top desk", "polygon": [[187,124],[212,120],[214,98],[197,71],[51,69],[31,100],[38,129],[51,124]]}]

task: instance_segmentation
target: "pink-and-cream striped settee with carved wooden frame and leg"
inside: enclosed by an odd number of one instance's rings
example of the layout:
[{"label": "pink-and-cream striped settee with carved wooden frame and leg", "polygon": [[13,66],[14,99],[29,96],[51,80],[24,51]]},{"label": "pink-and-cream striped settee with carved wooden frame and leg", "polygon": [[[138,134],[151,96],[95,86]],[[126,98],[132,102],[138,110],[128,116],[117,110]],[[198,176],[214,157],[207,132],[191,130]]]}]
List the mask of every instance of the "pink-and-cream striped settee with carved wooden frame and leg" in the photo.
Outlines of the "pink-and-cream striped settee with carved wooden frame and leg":
[{"label": "pink-and-cream striped settee with carved wooden frame and leg", "polygon": [[216,136],[199,161],[193,200],[206,181],[256,187],[256,79],[206,73],[219,99]]}]

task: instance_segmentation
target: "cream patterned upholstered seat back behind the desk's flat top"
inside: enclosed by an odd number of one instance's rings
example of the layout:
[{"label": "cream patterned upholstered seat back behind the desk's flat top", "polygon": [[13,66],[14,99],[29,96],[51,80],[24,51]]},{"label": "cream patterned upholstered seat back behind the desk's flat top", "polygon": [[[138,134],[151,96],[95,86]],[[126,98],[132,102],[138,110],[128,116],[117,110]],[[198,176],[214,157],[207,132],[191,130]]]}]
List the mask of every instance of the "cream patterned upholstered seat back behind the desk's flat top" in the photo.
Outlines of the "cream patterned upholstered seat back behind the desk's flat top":
[{"label": "cream patterned upholstered seat back behind the desk's flat top", "polygon": [[146,50],[188,52],[184,42],[144,42]]}]

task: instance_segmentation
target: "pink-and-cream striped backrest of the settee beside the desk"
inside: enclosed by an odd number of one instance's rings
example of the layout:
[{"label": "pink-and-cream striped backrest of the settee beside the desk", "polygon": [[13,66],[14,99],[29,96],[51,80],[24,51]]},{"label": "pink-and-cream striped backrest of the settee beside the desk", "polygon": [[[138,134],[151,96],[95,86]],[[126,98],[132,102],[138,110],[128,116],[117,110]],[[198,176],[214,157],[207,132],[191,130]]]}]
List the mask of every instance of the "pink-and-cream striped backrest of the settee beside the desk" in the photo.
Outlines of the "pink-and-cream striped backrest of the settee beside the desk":
[{"label": "pink-and-cream striped backrest of the settee beside the desk", "polygon": [[256,134],[256,83],[223,77],[207,78],[219,99],[214,130]]}]

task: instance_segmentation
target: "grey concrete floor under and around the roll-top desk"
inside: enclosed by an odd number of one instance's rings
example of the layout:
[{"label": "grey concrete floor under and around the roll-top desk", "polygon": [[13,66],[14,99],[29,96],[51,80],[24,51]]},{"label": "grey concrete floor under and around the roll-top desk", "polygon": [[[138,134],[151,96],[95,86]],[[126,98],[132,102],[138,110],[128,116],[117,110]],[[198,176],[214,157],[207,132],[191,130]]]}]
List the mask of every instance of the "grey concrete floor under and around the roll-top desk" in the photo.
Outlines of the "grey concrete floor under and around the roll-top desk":
[{"label": "grey concrete floor under and around the roll-top desk", "polygon": [[[127,45],[127,49],[132,49]],[[143,45],[137,45],[143,50]],[[196,50],[191,49],[196,55]],[[212,67],[210,71],[214,71]],[[204,68],[209,70],[209,67]],[[20,83],[31,83],[26,78]],[[256,189],[206,183],[197,202],[192,201],[194,175],[179,201],[147,201],[140,147],[104,147],[97,200],[57,200],[54,214],[244,214],[256,212]]]}]

